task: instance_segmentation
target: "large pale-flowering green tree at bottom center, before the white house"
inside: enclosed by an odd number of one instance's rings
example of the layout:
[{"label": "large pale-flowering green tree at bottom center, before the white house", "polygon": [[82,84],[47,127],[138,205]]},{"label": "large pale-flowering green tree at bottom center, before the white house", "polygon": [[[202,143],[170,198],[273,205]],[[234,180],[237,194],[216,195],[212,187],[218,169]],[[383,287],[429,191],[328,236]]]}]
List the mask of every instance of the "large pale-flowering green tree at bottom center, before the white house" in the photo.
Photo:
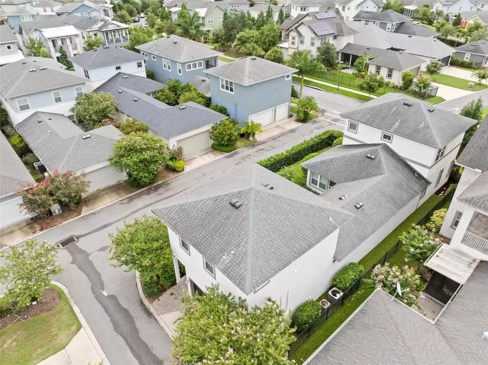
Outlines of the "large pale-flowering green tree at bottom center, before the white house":
[{"label": "large pale-flowering green tree at bottom center, before the white house", "polygon": [[295,341],[290,322],[271,299],[248,311],[244,300],[236,301],[213,284],[203,296],[183,297],[173,358],[178,364],[291,365],[286,354]]}]

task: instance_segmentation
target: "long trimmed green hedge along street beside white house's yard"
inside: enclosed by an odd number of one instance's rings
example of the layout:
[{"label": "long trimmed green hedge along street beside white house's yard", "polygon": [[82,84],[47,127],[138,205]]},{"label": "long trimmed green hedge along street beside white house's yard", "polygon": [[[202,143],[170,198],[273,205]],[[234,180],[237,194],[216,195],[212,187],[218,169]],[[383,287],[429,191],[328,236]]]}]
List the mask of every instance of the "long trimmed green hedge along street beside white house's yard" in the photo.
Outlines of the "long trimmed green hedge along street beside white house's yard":
[{"label": "long trimmed green hedge along street beside white house's yard", "polygon": [[[297,161],[302,160],[305,156],[320,151],[321,149],[331,146],[332,143],[339,137],[343,136],[343,132],[336,129],[329,129],[315,137],[305,140],[302,143],[295,144],[285,152],[278,153],[258,163],[271,170],[277,172],[285,166],[289,166]],[[213,145],[212,145],[213,147]]]}]

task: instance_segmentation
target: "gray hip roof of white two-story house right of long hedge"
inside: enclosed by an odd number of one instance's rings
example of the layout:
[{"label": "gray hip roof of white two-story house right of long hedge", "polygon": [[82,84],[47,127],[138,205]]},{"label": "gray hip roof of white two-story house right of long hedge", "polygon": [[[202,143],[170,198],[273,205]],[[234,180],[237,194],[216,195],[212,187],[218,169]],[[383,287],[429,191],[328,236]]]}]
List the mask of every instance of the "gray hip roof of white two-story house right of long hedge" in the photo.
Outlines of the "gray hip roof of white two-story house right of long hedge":
[{"label": "gray hip roof of white two-story house right of long hedge", "polygon": [[[405,105],[407,102],[412,105]],[[341,116],[434,148],[444,147],[476,123],[427,101],[395,93],[368,101]]]}]

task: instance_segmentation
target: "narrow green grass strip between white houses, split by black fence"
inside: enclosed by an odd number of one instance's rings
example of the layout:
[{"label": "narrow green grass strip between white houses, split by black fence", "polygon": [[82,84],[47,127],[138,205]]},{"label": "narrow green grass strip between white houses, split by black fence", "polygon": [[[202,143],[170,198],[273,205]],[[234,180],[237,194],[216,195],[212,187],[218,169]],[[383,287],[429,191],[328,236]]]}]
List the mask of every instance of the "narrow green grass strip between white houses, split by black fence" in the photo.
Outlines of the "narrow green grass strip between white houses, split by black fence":
[{"label": "narrow green grass strip between white houses, split by black fence", "polygon": [[[293,166],[293,165],[291,165]],[[288,167],[291,167],[288,166]],[[287,167],[287,168],[288,168]],[[282,170],[280,170],[282,171]],[[446,190],[446,194],[456,188],[456,184],[452,184]],[[389,250],[395,243],[398,242],[399,236],[407,231],[412,224],[417,223],[427,212],[432,209],[443,197],[432,195],[425,203],[423,203],[415,212],[410,214],[408,218],[403,221],[397,228],[395,228],[386,238],[380,242],[375,248],[369,251],[366,256],[359,261],[364,265],[365,269],[371,267],[378,261],[385,252]],[[400,249],[397,251],[389,261],[390,265],[405,265],[405,251]],[[407,263],[414,265],[415,263]],[[343,306],[323,324],[306,342],[302,345],[291,357],[297,364],[303,364],[304,361],[320,346],[325,340],[335,332],[341,324],[367,299],[367,297],[374,291],[374,288],[369,284],[363,284],[362,287],[350,298],[348,298]]]}]

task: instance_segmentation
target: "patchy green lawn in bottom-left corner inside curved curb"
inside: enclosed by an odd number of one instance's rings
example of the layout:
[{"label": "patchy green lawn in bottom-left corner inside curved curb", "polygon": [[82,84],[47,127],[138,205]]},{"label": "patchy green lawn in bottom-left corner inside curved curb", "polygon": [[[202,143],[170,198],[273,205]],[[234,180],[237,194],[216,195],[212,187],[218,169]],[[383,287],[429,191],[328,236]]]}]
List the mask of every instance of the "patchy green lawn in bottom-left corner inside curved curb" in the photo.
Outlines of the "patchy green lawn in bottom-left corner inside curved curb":
[{"label": "patchy green lawn in bottom-left corner inside curved curb", "polygon": [[81,329],[62,289],[51,286],[61,296],[56,308],[0,331],[2,365],[35,365],[66,347]]}]

